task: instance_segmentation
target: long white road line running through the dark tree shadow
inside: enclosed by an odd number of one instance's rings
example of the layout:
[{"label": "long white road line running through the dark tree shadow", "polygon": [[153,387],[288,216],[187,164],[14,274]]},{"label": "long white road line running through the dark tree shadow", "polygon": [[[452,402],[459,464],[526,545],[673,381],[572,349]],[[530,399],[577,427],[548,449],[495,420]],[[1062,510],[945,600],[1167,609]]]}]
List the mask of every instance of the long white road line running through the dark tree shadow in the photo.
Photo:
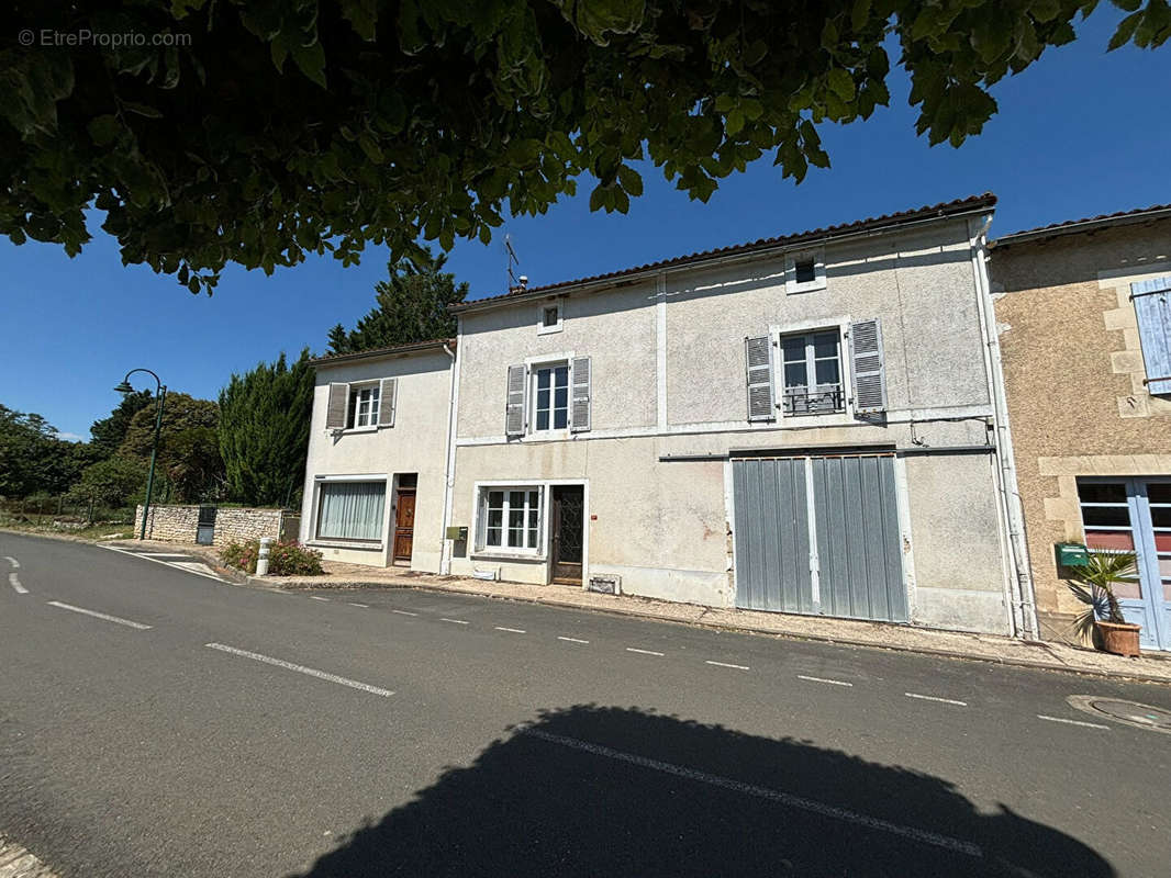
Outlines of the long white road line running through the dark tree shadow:
[{"label": "long white road line running through the dark tree shadow", "polygon": [[891,835],[902,836],[903,838],[910,838],[924,844],[932,844],[937,848],[956,851],[957,853],[965,853],[968,857],[984,856],[984,850],[979,845],[972,844],[971,842],[964,842],[959,838],[939,835],[938,832],[929,832],[924,829],[916,829],[915,826],[905,826],[898,823],[881,819],[878,817],[869,817],[864,814],[858,814],[857,811],[847,810],[845,808],[837,808],[836,805],[826,804],[824,802],[795,796],[792,793],[782,793],[781,790],[769,789],[768,787],[758,787],[754,783],[745,783],[744,781],[734,781],[731,777],[721,777],[720,775],[708,774],[707,771],[700,771],[694,768],[677,766],[671,762],[662,762],[657,759],[638,756],[634,753],[624,753],[610,747],[603,747],[602,745],[581,741],[576,738],[554,735],[537,728],[522,728],[521,734],[539,738],[542,741],[549,741],[550,743],[561,745],[562,747],[571,747],[575,750],[591,753],[595,756],[604,756],[605,759],[612,759],[615,761],[625,762],[641,768],[649,768],[653,771],[662,771],[676,777],[696,781],[697,783],[706,783],[708,786],[719,787],[733,793],[741,793],[746,796],[755,796],[756,798],[778,802],[787,808],[796,808],[822,817],[844,821],[845,823],[852,823],[858,826],[864,826],[865,829],[890,832]]}]

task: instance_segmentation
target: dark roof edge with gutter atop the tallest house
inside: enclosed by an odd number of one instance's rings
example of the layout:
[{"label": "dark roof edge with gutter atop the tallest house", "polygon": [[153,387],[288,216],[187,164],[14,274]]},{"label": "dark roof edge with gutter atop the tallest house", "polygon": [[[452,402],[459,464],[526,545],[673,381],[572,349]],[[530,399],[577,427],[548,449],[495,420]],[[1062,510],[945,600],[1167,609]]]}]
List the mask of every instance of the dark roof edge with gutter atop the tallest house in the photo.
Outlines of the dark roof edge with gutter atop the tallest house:
[{"label": "dark roof edge with gutter atop the tallest house", "polygon": [[943,201],[934,205],[925,205],[910,211],[888,213],[881,217],[869,217],[854,222],[826,226],[823,228],[813,228],[806,232],[797,232],[795,234],[780,235],[778,238],[761,238],[760,240],[749,241],[747,243],[737,243],[728,247],[718,247],[715,249],[689,253],[684,256],[674,256],[672,259],[664,259],[657,262],[648,262],[646,265],[635,266],[634,268],[623,268],[617,272],[595,274],[571,281],[560,281],[543,287],[514,289],[501,295],[487,296],[485,299],[477,299],[470,302],[453,304],[450,306],[448,309],[454,313],[481,310],[511,304],[512,302],[521,302],[553,294],[569,293],[584,287],[607,289],[618,286],[622,281],[634,280],[644,274],[651,275],[667,268],[701,266],[706,262],[715,262],[727,259],[728,256],[751,255],[772,249],[789,249],[799,245],[821,243],[838,238],[849,238],[860,234],[891,232],[897,228],[926,220],[941,219],[946,217],[963,217],[970,213],[981,213],[991,210],[995,206],[995,204],[997,197],[991,192],[985,192],[981,196],[970,196],[968,198],[960,198],[954,201]]}]

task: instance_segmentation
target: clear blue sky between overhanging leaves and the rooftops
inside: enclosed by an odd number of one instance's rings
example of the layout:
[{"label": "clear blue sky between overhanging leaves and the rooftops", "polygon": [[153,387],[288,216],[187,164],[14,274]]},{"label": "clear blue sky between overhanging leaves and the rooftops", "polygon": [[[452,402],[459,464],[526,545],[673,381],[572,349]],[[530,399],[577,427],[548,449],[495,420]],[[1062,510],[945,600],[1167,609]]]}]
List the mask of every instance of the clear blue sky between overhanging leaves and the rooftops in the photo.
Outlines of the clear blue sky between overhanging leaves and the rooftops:
[{"label": "clear blue sky between overhanging leaves and the rooftops", "polygon": [[[623,217],[590,213],[590,183],[581,180],[581,194],[546,215],[509,220],[521,272],[533,284],[550,283],[987,190],[1000,197],[994,235],[1169,203],[1171,47],[1107,54],[1119,18],[1103,5],[1076,42],[999,83],[999,114],[959,150],[916,137],[909,85],[896,69],[889,109],[822,126],[833,166],[810,169],[801,185],[782,181],[769,157],[721,183],[704,205],[646,167],[645,194]],[[501,241],[459,242],[452,252],[448,267],[473,297],[504,291]],[[271,277],[233,267],[207,297],[124,268],[100,229],[71,260],[47,245],[0,239],[0,403],[88,438],[133,366],[153,369],[171,390],[214,399],[232,372],[282,350],[323,351],[331,325],[350,325],[371,307],[385,263],[384,251],[370,249],[351,268],[329,258]]]}]

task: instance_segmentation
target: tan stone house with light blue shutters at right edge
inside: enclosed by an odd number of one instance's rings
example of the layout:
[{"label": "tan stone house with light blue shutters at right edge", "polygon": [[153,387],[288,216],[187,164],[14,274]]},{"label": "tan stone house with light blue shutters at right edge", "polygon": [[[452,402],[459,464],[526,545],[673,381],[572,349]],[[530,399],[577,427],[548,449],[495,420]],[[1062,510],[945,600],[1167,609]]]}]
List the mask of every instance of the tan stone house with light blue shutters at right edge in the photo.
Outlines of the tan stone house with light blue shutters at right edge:
[{"label": "tan stone house with light blue shutters at right edge", "polygon": [[991,249],[1041,635],[1083,609],[1055,544],[1132,550],[1119,589],[1171,650],[1171,206],[1004,235]]}]

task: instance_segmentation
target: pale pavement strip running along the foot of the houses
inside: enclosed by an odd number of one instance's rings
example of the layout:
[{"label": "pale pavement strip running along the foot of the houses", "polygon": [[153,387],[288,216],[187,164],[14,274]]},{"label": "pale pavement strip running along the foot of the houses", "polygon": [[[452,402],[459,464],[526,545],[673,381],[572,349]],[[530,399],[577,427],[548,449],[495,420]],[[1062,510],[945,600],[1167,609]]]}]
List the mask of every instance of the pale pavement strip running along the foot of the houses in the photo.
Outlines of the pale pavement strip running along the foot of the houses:
[{"label": "pale pavement strip running along the foot of the houses", "polygon": [[699,606],[631,595],[601,595],[564,585],[487,582],[330,561],[322,562],[322,567],[326,569],[324,576],[249,576],[248,582],[266,588],[275,585],[285,589],[413,588],[448,591],[703,625],[726,631],[1171,684],[1171,657],[1163,657],[1160,653],[1129,659],[1060,643],[1023,642],[993,635],[939,631],[857,619]]}]

